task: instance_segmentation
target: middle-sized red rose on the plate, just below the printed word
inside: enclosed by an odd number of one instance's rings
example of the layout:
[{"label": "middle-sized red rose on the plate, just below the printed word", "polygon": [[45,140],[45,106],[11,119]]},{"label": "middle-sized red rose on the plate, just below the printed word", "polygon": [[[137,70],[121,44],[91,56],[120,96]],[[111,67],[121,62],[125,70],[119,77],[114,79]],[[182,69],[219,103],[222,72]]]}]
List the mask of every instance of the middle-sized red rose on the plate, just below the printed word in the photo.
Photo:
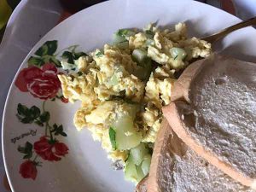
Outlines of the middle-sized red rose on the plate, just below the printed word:
[{"label": "middle-sized red rose on the plate, just below the printed word", "polygon": [[60,143],[57,140],[49,140],[47,137],[41,137],[40,140],[34,143],[36,153],[44,160],[58,161],[60,156],[68,154],[68,148],[65,143]]}]

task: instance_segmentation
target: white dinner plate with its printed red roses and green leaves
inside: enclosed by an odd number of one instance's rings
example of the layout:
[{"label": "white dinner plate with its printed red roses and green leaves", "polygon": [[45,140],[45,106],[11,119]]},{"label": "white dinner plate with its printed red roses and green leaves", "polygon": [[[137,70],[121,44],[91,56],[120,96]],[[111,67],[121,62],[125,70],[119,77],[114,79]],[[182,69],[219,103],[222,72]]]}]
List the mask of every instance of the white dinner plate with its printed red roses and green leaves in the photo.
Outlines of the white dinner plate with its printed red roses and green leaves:
[{"label": "white dinner plate with its printed red roses and green leaves", "polygon": [[[216,15],[224,19],[220,21]],[[3,157],[13,191],[134,190],[132,183],[125,182],[123,172],[113,171],[90,132],[75,129],[73,114],[79,102],[69,103],[62,96],[56,75],[63,73],[61,58],[76,59],[109,42],[119,28],[142,28],[156,20],[159,25],[186,21],[190,34],[197,37],[240,21],[189,0],[113,0],[84,9],[55,26],[27,55],[9,90],[3,115]],[[247,27],[233,32],[215,48],[253,61],[255,36],[253,27]]]}]

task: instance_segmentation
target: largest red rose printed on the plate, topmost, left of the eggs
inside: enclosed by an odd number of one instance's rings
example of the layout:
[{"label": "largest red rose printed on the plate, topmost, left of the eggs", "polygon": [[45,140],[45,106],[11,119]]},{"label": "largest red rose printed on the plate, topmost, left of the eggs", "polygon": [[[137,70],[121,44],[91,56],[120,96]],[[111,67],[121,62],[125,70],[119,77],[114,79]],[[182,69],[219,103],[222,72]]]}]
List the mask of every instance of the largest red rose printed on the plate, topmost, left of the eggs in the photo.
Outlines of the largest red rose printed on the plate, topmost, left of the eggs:
[{"label": "largest red rose printed on the plate, topmost, left of the eggs", "polygon": [[57,68],[52,63],[46,63],[41,68],[32,66],[22,69],[15,85],[20,91],[30,92],[32,96],[43,100],[54,98],[61,88]]}]

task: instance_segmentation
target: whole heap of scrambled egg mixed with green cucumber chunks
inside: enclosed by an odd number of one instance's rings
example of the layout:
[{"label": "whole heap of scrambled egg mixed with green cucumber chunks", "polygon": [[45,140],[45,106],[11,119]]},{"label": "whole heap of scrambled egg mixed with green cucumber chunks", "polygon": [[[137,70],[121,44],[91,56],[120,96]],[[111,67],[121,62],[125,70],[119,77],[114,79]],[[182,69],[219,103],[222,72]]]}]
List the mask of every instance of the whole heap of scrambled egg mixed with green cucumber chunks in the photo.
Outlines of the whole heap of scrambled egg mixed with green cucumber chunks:
[{"label": "whole heap of scrambled egg mixed with green cucumber chunks", "polygon": [[188,38],[184,23],[174,31],[148,25],[120,29],[111,44],[88,55],[70,54],[61,61],[67,73],[58,77],[63,95],[82,102],[74,125],[90,130],[108,157],[125,166],[125,178],[139,182],[149,172],[174,82],[193,59],[211,54],[211,44]]}]

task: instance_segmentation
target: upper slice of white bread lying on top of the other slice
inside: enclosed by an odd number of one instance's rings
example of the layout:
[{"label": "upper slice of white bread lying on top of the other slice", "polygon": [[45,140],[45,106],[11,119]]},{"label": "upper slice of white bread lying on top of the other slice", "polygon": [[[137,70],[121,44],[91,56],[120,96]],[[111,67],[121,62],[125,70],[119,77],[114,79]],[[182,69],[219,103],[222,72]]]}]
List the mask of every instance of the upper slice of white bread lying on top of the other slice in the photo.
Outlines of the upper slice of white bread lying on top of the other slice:
[{"label": "upper slice of white bread lying on top of the other slice", "polygon": [[177,136],[256,189],[256,64],[212,55],[191,64],[172,93],[163,113]]}]

